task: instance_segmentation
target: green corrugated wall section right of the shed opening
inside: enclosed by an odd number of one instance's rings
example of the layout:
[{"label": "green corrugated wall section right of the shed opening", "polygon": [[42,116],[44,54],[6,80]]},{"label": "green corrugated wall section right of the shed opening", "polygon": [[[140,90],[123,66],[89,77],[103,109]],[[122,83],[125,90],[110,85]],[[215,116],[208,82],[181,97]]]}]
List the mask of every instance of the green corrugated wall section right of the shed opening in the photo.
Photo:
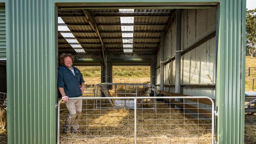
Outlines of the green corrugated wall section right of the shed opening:
[{"label": "green corrugated wall section right of the shed opening", "polygon": [[245,0],[223,0],[219,5],[218,144],[244,143],[245,19]]}]

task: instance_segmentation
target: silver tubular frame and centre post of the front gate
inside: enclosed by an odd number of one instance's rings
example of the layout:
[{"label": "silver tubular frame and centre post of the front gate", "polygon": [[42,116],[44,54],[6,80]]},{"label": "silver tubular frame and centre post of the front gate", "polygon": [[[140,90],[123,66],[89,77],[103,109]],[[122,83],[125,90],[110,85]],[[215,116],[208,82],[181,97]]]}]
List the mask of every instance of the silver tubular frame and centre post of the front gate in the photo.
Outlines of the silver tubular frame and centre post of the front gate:
[{"label": "silver tubular frame and centre post of the front gate", "polygon": [[[176,98],[197,98],[197,99],[208,99],[211,101],[211,144],[215,144],[214,141],[214,116],[215,116],[215,106],[213,103],[213,100],[211,100],[211,98],[207,97],[207,96],[162,96],[162,97],[87,97],[87,98],[69,98],[69,100],[77,100],[77,99],[82,99],[82,100],[111,100],[111,99],[133,99],[134,100],[134,144],[137,143],[137,119],[136,119],[136,111],[137,111],[137,99],[176,99]],[[59,141],[59,136],[60,136],[60,103],[62,102],[62,100],[60,100],[58,102],[58,104],[56,105],[56,107],[58,107],[58,118],[57,118],[57,144],[60,143]]]}]

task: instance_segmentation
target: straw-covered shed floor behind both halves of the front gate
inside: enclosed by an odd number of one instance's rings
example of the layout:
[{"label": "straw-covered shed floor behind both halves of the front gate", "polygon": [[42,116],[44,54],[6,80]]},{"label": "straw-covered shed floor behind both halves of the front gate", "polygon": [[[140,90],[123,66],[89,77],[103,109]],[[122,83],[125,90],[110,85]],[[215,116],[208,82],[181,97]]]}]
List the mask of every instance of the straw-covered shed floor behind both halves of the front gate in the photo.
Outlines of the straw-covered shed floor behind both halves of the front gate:
[{"label": "straw-covered shed floor behind both halves of the front gate", "polygon": [[[79,122],[79,133],[63,133],[63,125],[67,110],[61,103],[60,140],[61,143],[87,144],[132,144],[134,143],[134,110],[115,108],[94,109],[93,101],[83,101],[83,113]],[[90,104],[89,104],[90,103]],[[150,108],[152,101],[140,107]],[[102,107],[111,105],[102,104]],[[184,114],[170,105],[158,101],[158,110],[137,109],[137,144],[161,143],[196,143],[210,144],[211,131],[204,126],[198,126],[192,120],[184,118]]]}]

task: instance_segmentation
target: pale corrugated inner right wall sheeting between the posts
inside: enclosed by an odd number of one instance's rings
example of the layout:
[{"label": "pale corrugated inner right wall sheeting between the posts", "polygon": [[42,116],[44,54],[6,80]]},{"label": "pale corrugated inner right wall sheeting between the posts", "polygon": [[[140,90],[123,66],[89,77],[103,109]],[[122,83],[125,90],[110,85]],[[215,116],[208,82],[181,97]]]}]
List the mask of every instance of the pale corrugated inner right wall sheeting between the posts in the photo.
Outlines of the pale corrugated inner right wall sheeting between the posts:
[{"label": "pale corrugated inner right wall sheeting between the posts", "polygon": [[[216,7],[182,10],[182,50],[215,30],[216,13]],[[165,61],[175,56],[176,52],[176,18],[174,17],[171,22],[165,35]],[[183,54],[181,57],[181,84],[215,84],[215,51],[216,37],[212,37]],[[160,65],[160,54],[161,50],[158,51],[157,65]],[[169,68],[171,69],[169,70]],[[157,78],[159,76],[160,70],[157,70]],[[160,80],[158,84],[160,84]],[[165,65],[164,84],[175,84],[175,59]],[[165,87],[169,90],[168,86]],[[211,93],[215,92],[215,89],[211,90]],[[175,92],[175,89],[170,89],[170,92]],[[184,94],[189,93],[189,89],[183,89],[183,92]],[[204,92],[197,89],[197,92],[193,92],[193,95],[199,96],[202,93]]]}]

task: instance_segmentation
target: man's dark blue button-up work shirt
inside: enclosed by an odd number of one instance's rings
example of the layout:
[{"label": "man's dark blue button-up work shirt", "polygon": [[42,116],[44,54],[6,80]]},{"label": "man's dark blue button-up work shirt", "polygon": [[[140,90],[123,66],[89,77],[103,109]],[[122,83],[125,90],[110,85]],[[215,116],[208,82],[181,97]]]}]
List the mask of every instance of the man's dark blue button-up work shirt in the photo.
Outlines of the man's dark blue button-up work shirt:
[{"label": "man's dark blue button-up work shirt", "polygon": [[83,76],[80,70],[72,66],[75,76],[72,71],[65,65],[59,67],[58,71],[58,88],[62,87],[66,96],[70,98],[75,98],[82,96],[82,91],[80,90],[80,85],[84,83]]}]

